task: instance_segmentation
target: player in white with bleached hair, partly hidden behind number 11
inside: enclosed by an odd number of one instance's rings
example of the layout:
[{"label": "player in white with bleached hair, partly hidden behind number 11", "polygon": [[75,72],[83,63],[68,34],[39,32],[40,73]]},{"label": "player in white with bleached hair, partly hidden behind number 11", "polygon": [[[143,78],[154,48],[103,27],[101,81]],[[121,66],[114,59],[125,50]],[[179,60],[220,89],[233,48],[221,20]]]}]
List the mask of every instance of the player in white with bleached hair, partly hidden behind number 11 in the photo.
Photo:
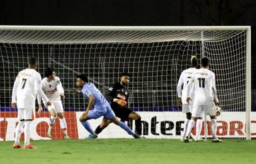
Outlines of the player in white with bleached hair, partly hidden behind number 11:
[{"label": "player in white with bleached hair, partly hidden behind number 11", "polygon": [[[200,65],[199,65],[200,67]],[[191,113],[192,113],[192,107],[193,107],[193,101],[190,102],[189,104],[187,103],[187,84],[189,82],[189,79],[192,77],[192,74],[197,71],[198,67],[198,61],[196,59],[196,56],[191,57],[191,68],[186,69],[182,71],[180,75],[180,79],[178,81],[177,85],[177,92],[178,92],[178,105],[182,105],[182,112],[186,113],[186,120],[184,122],[184,128],[183,128],[183,135],[181,136],[181,141],[184,141],[187,133],[187,127],[188,127],[188,122],[191,120]],[[181,86],[183,84],[183,90],[181,94]],[[194,98],[194,94],[191,95],[191,98]],[[202,138],[200,138],[200,133],[202,130],[202,117],[199,117],[196,121],[196,138],[195,141],[204,141]]]}]

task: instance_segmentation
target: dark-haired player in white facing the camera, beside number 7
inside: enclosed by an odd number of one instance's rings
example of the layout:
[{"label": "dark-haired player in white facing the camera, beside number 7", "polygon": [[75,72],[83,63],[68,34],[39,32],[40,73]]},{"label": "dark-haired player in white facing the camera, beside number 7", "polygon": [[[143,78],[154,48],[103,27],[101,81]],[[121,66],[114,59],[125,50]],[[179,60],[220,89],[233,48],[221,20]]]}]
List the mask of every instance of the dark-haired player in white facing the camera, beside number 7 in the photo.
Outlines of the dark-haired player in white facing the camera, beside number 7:
[{"label": "dark-haired player in white facing the camera, beside number 7", "polygon": [[[60,82],[60,78],[56,76],[54,69],[47,68],[45,70],[45,78],[41,81],[41,87],[45,95],[52,102],[51,106],[48,106],[47,109],[50,113],[49,119],[49,128],[47,136],[52,137],[52,127],[55,122],[56,117],[59,117],[60,128],[64,134],[64,139],[71,139],[67,134],[67,122],[64,118],[64,110],[61,102],[61,97],[65,98],[64,90]],[[41,96],[37,95],[37,101],[39,105],[38,114],[42,112]],[[44,104],[45,101],[43,100]]]}]

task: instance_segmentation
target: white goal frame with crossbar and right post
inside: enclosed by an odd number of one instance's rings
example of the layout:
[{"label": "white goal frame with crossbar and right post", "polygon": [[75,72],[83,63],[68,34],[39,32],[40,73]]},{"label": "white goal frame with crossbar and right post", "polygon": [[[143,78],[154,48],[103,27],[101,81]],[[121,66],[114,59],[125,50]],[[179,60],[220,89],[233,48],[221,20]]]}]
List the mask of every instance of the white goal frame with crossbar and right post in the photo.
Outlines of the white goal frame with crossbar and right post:
[{"label": "white goal frame with crossbar and right post", "polygon": [[251,139],[251,26],[0,26],[0,30],[246,31],[246,139]]}]

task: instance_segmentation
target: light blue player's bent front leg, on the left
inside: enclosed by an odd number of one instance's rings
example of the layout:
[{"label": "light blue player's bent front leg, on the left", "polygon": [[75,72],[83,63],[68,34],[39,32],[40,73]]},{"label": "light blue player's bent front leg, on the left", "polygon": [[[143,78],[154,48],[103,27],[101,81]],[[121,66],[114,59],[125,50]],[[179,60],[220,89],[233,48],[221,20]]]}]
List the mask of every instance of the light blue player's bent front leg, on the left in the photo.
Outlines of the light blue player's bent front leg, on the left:
[{"label": "light blue player's bent front leg, on the left", "polygon": [[98,135],[94,132],[93,128],[91,128],[88,120],[97,119],[102,116],[102,113],[97,111],[97,109],[90,110],[87,114],[86,118],[83,118],[83,115],[79,118],[79,121],[82,123],[83,127],[90,133],[90,135],[86,139],[97,138]]}]

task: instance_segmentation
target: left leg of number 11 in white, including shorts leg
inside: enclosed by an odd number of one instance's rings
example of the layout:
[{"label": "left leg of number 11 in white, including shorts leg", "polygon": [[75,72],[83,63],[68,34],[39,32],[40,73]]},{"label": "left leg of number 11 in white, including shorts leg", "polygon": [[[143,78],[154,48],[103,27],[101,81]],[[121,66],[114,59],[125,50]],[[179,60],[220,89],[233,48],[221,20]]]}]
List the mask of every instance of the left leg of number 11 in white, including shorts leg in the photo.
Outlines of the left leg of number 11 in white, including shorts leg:
[{"label": "left leg of number 11 in white, including shorts leg", "polygon": [[191,133],[196,121],[197,121],[197,118],[202,117],[202,113],[203,113],[202,105],[193,105],[192,118],[188,123],[188,129],[187,129],[186,138],[184,139],[184,142],[189,141],[190,133]]}]

